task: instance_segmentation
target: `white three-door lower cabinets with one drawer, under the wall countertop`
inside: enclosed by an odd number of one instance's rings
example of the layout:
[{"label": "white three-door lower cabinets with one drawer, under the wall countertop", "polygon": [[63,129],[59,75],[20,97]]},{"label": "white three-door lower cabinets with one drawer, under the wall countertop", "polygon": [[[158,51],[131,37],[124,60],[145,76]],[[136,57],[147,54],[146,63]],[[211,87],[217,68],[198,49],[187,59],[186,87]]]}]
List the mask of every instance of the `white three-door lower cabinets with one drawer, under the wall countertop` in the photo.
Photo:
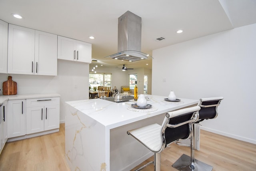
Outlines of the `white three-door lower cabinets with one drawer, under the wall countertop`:
[{"label": "white three-door lower cabinets with one drawer, under the wall countertop", "polygon": [[0,123],[0,129],[8,126],[8,136],[0,131],[1,139],[16,141],[59,131],[60,97],[8,100],[7,109],[8,124]]}]

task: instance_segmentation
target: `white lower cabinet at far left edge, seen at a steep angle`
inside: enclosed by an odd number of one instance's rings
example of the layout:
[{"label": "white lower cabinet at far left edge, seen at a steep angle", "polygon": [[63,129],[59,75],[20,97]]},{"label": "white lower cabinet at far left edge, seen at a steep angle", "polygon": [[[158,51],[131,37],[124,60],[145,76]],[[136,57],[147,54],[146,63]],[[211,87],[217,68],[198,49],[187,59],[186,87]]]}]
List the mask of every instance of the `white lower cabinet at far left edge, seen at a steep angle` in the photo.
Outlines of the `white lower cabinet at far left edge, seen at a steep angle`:
[{"label": "white lower cabinet at far left edge, seen at a steep angle", "polygon": [[7,136],[7,121],[6,121],[6,101],[0,107],[0,153],[8,139]]}]

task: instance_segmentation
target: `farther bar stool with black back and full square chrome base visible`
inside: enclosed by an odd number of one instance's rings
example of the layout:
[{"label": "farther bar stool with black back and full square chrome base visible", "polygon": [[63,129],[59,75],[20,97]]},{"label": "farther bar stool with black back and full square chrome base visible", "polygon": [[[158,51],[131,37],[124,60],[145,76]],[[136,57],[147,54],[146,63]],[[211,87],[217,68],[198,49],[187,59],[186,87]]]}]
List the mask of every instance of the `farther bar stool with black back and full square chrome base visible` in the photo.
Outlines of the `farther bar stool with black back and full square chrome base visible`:
[{"label": "farther bar stool with black back and full square chrome base visible", "polygon": [[202,98],[198,102],[201,107],[199,111],[199,119],[192,123],[192,135],[190,137],[190,156],[183,154],[172,167],[180,171],[212,171],[213,167],[195,159],[195,139],[194,129],[197,123],[204,119],[214,119],[218,116],[218,106],[223,97]]}]

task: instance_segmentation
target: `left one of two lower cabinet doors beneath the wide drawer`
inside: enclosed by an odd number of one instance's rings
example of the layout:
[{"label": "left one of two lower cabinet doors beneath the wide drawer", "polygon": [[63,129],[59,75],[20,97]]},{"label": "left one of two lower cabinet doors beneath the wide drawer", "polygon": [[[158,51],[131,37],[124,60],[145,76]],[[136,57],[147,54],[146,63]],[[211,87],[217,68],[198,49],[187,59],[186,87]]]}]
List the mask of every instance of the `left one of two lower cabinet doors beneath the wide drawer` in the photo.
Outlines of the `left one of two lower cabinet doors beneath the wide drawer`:
[{"label": "left one of two lower cabinet doors beneath the wide drawer", "polygon": [[27,108],[27,134],[44,131],[44,106]]}]

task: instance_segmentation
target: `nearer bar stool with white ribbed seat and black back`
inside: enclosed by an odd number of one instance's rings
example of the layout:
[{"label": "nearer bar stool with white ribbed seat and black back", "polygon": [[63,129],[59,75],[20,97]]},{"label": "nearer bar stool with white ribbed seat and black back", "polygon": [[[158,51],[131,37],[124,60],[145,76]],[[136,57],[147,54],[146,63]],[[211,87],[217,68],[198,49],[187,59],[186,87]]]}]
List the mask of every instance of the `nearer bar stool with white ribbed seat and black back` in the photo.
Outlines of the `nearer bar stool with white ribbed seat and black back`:
[{"label": "nearer bar stool with white ribbed seat and black back", "polygon": [[136,140],[154,153],[154,161],[147,163],[136,171],[154,164],[154,171],[160,171],[161,151],[177,139],[188,139],[191,135],[191,122],[198,120],[199,106],[180,109],[166,113],[162,125],[157,123],[127,131]]}]

